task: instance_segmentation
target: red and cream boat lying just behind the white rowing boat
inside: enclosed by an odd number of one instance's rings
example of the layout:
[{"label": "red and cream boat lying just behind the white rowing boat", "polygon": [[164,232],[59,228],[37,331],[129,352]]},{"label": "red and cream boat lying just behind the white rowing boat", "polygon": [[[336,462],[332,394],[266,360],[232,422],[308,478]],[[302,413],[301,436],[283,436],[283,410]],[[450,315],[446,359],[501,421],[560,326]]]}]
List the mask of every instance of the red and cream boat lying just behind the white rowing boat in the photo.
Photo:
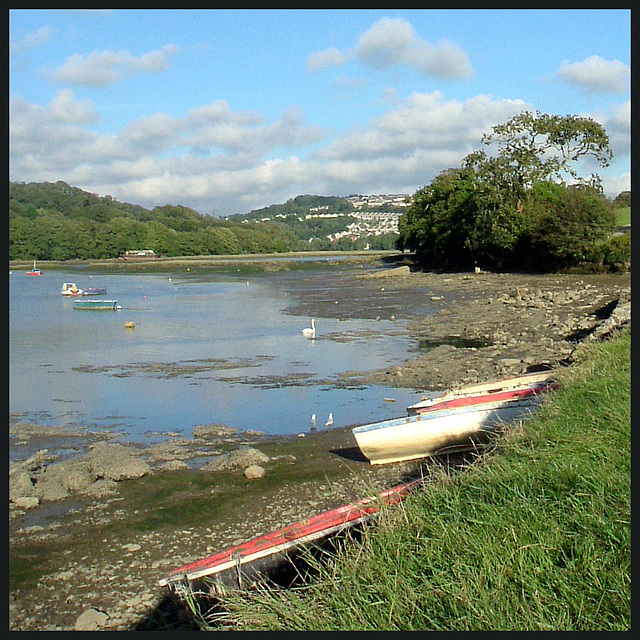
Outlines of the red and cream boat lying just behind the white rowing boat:
[{"label": "red and cream boat lying just behind the white rowing boat", "polygon": [[524,398],[546,393],[555,386],[552,371],[526,373],[513,378],[468,385],[460,389],[448,389],[434,397],[410,405],[407,407],[407,412],[409,414],[424,413],[447,407],[489,402],[492,399]]}]

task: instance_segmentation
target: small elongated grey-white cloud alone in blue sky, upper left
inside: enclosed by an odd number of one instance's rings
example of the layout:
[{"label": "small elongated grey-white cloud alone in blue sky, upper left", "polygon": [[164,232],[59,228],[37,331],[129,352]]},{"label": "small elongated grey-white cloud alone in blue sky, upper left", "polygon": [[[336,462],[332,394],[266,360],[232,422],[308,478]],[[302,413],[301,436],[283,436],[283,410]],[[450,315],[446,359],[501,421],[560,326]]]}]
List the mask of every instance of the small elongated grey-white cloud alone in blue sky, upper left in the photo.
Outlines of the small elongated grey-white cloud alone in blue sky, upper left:
[{"label": "small elongated grey-white cloud alone in blue sky, upper left", "polygon": [[162,73],[169,59],[179,52],[175,45],[134,56],[130,51],[94,51],[88,56],[75,53],[49,77],[58,83],[80,86],[107,86],[134,73]]}]

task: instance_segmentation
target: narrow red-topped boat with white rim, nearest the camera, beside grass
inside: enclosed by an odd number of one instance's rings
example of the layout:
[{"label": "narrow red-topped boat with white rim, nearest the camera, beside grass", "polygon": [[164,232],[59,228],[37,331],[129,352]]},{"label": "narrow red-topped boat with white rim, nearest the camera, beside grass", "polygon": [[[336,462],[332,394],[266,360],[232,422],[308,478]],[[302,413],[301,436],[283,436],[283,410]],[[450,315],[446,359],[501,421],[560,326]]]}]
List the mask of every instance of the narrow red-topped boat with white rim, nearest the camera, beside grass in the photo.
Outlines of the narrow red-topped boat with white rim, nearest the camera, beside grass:
[{"label": "narrow red-topped boat with white rim, nearest the camera, beside grass", "polygon": [[174,569],[159,581],[160,586],[180,589],[189,582],[207,578],[218,590],[244,589],[268,578],[288,559],[313,544],[374,517],[383,504],[396,504],[418,487],[412,480],[386,489],[374,497],[363,498],[317,516],[258,536],[248,542]]}]

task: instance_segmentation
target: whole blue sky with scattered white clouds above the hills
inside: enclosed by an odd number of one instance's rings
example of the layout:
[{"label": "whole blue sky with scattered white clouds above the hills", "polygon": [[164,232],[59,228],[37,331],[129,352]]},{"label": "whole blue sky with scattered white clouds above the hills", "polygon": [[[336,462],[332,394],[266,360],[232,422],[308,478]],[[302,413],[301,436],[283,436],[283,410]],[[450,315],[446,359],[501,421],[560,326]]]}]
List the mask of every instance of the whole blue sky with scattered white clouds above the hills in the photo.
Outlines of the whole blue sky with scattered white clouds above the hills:
[{"label": "whole blue sky with scattered white clouds above the hills", "polygon": [[630,9],[11,9],[9,180],[226,216],[413,194],[523,111],[631,189]]}]

